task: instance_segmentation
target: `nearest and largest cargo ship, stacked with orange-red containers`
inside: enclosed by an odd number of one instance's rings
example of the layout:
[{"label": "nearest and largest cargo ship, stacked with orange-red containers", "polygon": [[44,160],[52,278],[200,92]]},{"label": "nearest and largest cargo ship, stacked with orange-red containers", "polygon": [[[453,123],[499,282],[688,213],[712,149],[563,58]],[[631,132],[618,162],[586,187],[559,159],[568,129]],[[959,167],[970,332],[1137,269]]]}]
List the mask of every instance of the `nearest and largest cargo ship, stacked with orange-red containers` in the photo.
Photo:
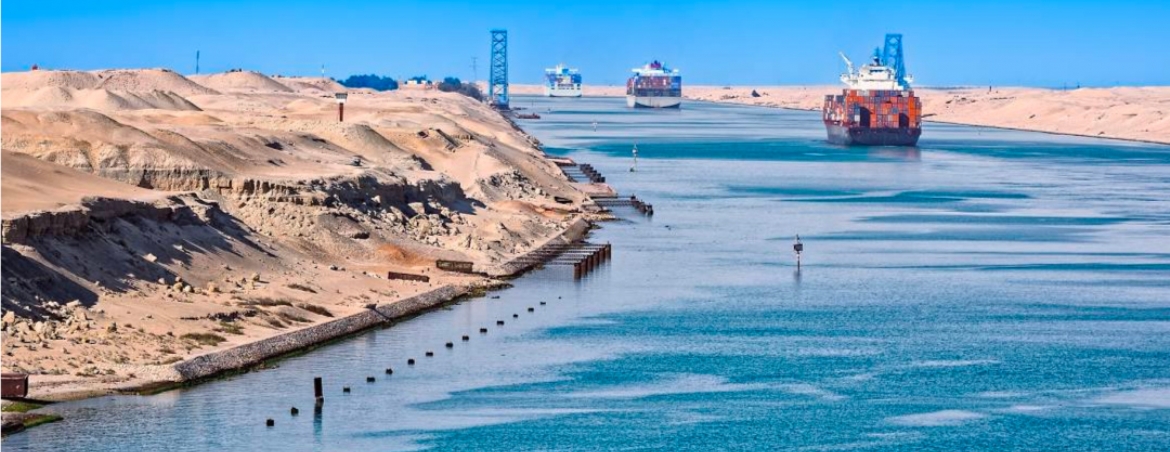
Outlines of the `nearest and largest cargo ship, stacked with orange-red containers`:
[{"label": "nearest and largest cargo ship, stacked with orange-red containers", "polygon": [[878,146],[913,146],[922,135],[922,101],[910,89],[909,76],[882,64],[881,56],[856,71],[841,54],[847,73],[840,95],[825,96],[821,111],[828,142]]}]

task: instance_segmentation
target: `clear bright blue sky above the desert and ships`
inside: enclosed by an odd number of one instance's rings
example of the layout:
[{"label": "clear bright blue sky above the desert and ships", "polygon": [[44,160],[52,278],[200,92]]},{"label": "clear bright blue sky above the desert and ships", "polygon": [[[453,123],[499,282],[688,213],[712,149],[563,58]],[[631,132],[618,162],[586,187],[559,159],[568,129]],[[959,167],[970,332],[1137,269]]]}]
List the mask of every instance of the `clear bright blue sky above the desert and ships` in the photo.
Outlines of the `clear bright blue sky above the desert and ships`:
[{"label": "clear bright blue sky above the desert and ships", "polygon": [[487,78],[489,33],[509,32],[512,83],[578,67],[624,82],[660,59],[689,84],[837,83],[902,33],[920,85],[1170,84],[1170,0],[1114,1],[298,1],[7,0],[5,71],[246,68]]}]

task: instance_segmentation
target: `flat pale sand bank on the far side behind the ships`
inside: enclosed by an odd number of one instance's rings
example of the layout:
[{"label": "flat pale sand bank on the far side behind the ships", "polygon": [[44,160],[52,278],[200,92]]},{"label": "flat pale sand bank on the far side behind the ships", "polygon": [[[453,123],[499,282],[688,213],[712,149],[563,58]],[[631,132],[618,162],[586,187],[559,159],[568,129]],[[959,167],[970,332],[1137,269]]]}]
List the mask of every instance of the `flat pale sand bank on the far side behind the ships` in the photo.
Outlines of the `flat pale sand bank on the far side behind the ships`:
[{"label": "flat pale sand bank on the far side behind the ships", "polygon": [[[538,95],[539,85],[511,85],[516,95]],[[756,91],[758,97],[751,95]],[[687,85],[690,100],[819,111],[838,85],[704,87]],[[589,85],[585,96],[625,96],[624,87]],[[1080,88],[921,88],[923,119],[1049,133],[1080,135],[1170,144],[1170,87]]]}]

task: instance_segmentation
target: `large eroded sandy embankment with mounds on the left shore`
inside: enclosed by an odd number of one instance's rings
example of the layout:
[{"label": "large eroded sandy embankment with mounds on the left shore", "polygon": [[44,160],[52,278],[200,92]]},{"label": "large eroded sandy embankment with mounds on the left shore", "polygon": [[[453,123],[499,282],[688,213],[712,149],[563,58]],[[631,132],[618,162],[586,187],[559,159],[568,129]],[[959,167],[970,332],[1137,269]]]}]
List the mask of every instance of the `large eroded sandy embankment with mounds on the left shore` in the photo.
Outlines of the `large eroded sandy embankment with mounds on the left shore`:
[{"label": "large eroded sandy embankment with mounds on the left shore", "polygon": [[35,398],[173,381],[212,351],[491,285],[435,260],[503,268],[587,215],[532,138],[459,94],[350,90],[338,122],[336,82],[254,71],[0,88],[0,368]]}]

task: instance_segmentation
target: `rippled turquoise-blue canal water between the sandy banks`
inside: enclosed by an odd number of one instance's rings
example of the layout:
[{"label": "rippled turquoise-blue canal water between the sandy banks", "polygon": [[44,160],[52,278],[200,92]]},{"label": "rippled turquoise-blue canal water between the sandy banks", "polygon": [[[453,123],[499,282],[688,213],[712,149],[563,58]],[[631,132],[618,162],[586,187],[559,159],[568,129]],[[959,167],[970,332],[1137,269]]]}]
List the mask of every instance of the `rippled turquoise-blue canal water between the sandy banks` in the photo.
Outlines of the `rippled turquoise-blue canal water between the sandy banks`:
[{"label": "rippled turquoise-blue canal water between the sandy banks", "polygon": [[621,102],[517,102],[655,206],[594,233],[614,255],[589,278],[57,405],[70,422],[5,450],[1168,448],[1170,148],[930,124],[917,149],[845,149],[817,114]]}]

